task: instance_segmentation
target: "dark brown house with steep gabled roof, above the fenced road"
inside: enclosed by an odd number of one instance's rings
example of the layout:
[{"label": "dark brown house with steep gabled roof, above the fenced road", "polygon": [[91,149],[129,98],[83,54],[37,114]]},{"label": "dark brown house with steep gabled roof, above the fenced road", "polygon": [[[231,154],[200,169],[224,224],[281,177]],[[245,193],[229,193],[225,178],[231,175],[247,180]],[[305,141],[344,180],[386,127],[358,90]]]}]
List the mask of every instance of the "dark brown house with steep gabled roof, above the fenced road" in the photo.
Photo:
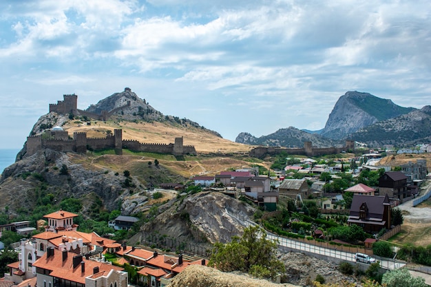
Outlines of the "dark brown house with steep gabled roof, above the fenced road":
[{"label": "dark brown house with steep gabled roof, above the fenced road", "polygon": [[390,201],[388,195],[353,195],[348,224],[361,226],[367,233],[390,229]]}]

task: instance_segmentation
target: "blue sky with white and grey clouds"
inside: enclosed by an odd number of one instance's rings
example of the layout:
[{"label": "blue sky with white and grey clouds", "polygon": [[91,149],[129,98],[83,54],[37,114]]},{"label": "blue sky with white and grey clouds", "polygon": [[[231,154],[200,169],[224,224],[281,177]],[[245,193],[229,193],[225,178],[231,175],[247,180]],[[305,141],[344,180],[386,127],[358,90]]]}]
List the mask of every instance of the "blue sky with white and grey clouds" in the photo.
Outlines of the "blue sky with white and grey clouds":
[{"label": "blue sky with white and grey clouds", "polygon": [[0,1],[0,148],[130,87],[235,140],[322,129],[348,91],[431,104],[431,1]]}]

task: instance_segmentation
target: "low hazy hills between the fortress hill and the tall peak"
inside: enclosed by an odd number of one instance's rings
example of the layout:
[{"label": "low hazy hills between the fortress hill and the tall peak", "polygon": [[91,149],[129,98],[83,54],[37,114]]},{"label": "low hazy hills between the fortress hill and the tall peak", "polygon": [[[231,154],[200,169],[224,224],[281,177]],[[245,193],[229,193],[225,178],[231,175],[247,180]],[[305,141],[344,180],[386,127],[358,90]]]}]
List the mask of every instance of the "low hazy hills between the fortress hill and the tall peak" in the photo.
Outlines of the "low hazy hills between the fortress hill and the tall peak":
[{"label": "low hazy hills between the fortress hill and the tall peak", "polygon": [[264,145],[268,147],[304,147],[304,142],[313,142],[315,147],[334,147],[341,145],[337,140],[324,138],[318,134],[310,134],[306,131],[301,131],[295,127],[279,129],[268,136],[256,138],[249,133],[240,133],[235,142],[244,143],[246,145]]}]

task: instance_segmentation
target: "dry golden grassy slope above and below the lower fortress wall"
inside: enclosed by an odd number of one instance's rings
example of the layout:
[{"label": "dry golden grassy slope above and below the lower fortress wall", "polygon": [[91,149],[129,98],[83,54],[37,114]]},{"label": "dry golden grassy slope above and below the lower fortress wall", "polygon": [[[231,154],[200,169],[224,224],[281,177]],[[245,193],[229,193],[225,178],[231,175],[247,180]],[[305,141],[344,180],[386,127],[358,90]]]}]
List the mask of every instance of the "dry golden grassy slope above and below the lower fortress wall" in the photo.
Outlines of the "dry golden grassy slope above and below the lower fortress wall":
[{"label": "dry golden grassy slope above and below the lower fortress wall", "polygon": [[[196,127],[125,121],[120,123],[92,121],[91,125],[81,125],[71,121],[63,128],[70,136],[74,131],[86,131],[88,137],[105,137],[107,130],[123,129],[123,139],[147,143],[169,144],[174,142],[174,138],[182,136],[184,145],[193,145],[198,152],[198,156],[185,156],[184,160],[176,160],[174,156],[166,154],[134,153],[127,150],[123,151],[123,156],[120,157],[97,152],[87,153],[86,160],[76,157],[77,162],[86,164],[89,168],[108,168],[118,173],[123,173],[127,169],[132,176],[138,178],[153,176],[162,182],[169,182],[169,178],[176,178],[176,176],[190,178],[196,175],[214,175],[228,169],[251,167],[253,164],[261,164],[266,168],[270,165],[269,162],[261,160],[250,162],[248,153],[253,147],[219,138],[209,131]],[[230,156],[215,156],[214,153],[230,154]],[[154,167],[156,158],[160,162],[159,169]],[[151,166],[148,162],[152,162]]]}]

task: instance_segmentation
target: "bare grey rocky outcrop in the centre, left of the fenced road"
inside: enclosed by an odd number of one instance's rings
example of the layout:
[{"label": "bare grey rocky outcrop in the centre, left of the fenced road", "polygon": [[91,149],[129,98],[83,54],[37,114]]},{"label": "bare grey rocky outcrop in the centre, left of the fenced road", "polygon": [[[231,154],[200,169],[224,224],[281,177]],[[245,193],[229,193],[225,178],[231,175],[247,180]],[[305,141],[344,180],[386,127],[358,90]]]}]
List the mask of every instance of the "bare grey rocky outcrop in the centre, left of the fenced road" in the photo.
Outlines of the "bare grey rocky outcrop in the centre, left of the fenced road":
[{"label": "bare grey rocky outcrop in the centre, left of the fenced road", "polygon": [[[200,192],[161,207],[159,212],[141,231],[198,244],[230,242],[232,236],[242,235],[244,225],[238,218],[250,217],[255,209],[223,193]],[[139,241],[139,236],[132,241]]]}]

